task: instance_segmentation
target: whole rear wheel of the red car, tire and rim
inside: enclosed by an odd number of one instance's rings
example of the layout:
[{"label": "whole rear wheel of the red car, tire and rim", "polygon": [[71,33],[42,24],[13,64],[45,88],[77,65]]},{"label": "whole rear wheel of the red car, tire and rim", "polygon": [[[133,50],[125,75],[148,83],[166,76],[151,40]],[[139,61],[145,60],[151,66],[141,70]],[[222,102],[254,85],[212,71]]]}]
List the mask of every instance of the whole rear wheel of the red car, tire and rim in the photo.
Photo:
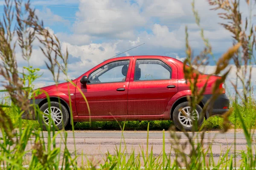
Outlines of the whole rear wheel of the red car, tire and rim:
[{"label": "whole rear wheel of the red car, tire and rim", "polygon": [[196,125],[195,123],[199,128],[204,122],[204,116],[200,115],[202,111],[200,105],[196,105],[196,108],[192,111],[189,102],[180,103],[173,112],[173,122],[179,130],[191,131],[193,125]]}]

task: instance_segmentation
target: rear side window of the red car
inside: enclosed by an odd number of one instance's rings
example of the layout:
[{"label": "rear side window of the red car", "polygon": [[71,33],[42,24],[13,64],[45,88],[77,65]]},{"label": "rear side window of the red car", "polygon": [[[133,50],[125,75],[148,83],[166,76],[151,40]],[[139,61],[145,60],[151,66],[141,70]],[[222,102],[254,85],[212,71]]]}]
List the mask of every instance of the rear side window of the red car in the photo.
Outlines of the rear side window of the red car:
[{"label": "rear side window of the red car", "polygon": [[159,59],[137,59],[134,81],[171,79],[172,68]]}]

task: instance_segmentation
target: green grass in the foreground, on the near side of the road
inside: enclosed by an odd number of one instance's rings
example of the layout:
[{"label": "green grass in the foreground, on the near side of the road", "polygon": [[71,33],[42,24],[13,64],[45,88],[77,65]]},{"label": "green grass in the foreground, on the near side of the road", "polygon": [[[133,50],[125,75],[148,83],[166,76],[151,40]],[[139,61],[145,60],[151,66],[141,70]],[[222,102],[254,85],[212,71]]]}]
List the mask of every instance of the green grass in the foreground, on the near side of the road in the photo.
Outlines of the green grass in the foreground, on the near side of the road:
[{"label": "green grass in the foreground, on the near side of the road", "polygon": [[[249,110],[247,109],[247,111]],[[41,128],[35,130],[36,124],[27,124],[23,130],[19,129],[17,133],[14,133],[15,137],[13,139],[2,133],[3,138],[0,139],[0,163],[2,169],[6,170],[159,170],[162,168],[166,170],[183,168],[191,170],[224,170],[227,167],[232,169],[235,166],[233,158],[236,155],[236,157],[241,159],[239,166],[238,162],[236,162],[236,167],[239,167],[239,169],[251,169],[251,167],[256,167],[255,151],[253,150],[255,143],[253,143],[250,130],[247,130],[241,111],[236,105],[234,113],[236,113],[237,120],[240,121],[244,130],[247,150],[235,152],[232,150],[230,153],[231,146],[228,146],[227,149],[222,150],[223,152],[218,161],[214,161],[213,159],[213,148],[211,144],[209,144],[209,147],[204,147],[203,149],[203,140],[201,140],[201,137],[204,136],[204,133],[189,133],[187,136],[188,143],[185,144],[189,148],[189,153],[185,153],[185,149],[180,145],[178,134],[175,131],[171,131],[170,135],[174,141],[172,145],[166,145],[164,140],[165,133],[163,133],[163,152],[160,155],[154,155],[152,151],[154,146],[150,147],[148,142],[145,149],[141,147],[141,150],[127,150],[125,139],[122,138],[120,139],[120,145],[116,146],[116,153],[114,155],[107,153],[106,158],[101,161],[102,163],[97,163],[97,161],[91,161],[90,158],[87,158],[86,148],[82,155],[78,155],[76,151],[74,153],[70,152],[67,147],[67,132],[48,131],[48,135],[44,136],[41,133]],[[19,123],[21,119],[16,119],[14,122],[21,125]],[[148,131],[150,125],[150,122],[148,122]],[[124,124],[123,129],[125,126]],[[2,132],[4,132],[3,129]],[[187,135],[188,133],[183,132],[183,134]],[[61,142],[58,144],[55,140],[57,135],[61,136]],[[32,144],[32,147],[28,146],[29,143]],[[124,145],[123,149],[121,149],[122,145]],[[166,147],[172,147],[172,154],[175,154],[176,157],[171,157],[171,153],[165,153],[164,150]],[[78,160],[81,160],[81,162],[78,162]],[[29,166],[23,166],[24,164]]]}]

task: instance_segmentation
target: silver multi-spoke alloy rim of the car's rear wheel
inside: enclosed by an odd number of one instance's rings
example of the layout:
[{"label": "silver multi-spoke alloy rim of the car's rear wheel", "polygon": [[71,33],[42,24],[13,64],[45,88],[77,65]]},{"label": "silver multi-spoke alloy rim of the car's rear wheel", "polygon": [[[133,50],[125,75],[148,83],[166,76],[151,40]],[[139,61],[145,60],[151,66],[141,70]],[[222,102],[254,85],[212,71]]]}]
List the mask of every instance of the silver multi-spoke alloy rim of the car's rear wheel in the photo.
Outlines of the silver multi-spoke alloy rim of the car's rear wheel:
[{"label": "silver multi-spoke alloy rim of the car's rear wheel", "polygon": [[192,127],[192,122],[199,119],[198,111],[195,109],[193,113],[191,113],[191,110],[192,108],[189,106],[180,110],[178,118],[181,125],[185,127]]}]

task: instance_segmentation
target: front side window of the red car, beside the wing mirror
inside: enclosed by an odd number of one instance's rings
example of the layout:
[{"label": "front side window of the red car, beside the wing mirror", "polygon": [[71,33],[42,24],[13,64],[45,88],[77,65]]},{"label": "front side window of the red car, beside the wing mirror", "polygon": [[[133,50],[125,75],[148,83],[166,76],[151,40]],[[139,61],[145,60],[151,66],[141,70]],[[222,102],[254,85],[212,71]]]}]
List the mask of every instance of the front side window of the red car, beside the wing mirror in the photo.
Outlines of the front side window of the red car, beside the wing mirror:
[{"label": "front side window of the red car, beside the wing mirror", "polygon": [[108,83],[108,82],[125,82],[130,60],[121,60],[110,62],[89,76],[89,84]]}]

